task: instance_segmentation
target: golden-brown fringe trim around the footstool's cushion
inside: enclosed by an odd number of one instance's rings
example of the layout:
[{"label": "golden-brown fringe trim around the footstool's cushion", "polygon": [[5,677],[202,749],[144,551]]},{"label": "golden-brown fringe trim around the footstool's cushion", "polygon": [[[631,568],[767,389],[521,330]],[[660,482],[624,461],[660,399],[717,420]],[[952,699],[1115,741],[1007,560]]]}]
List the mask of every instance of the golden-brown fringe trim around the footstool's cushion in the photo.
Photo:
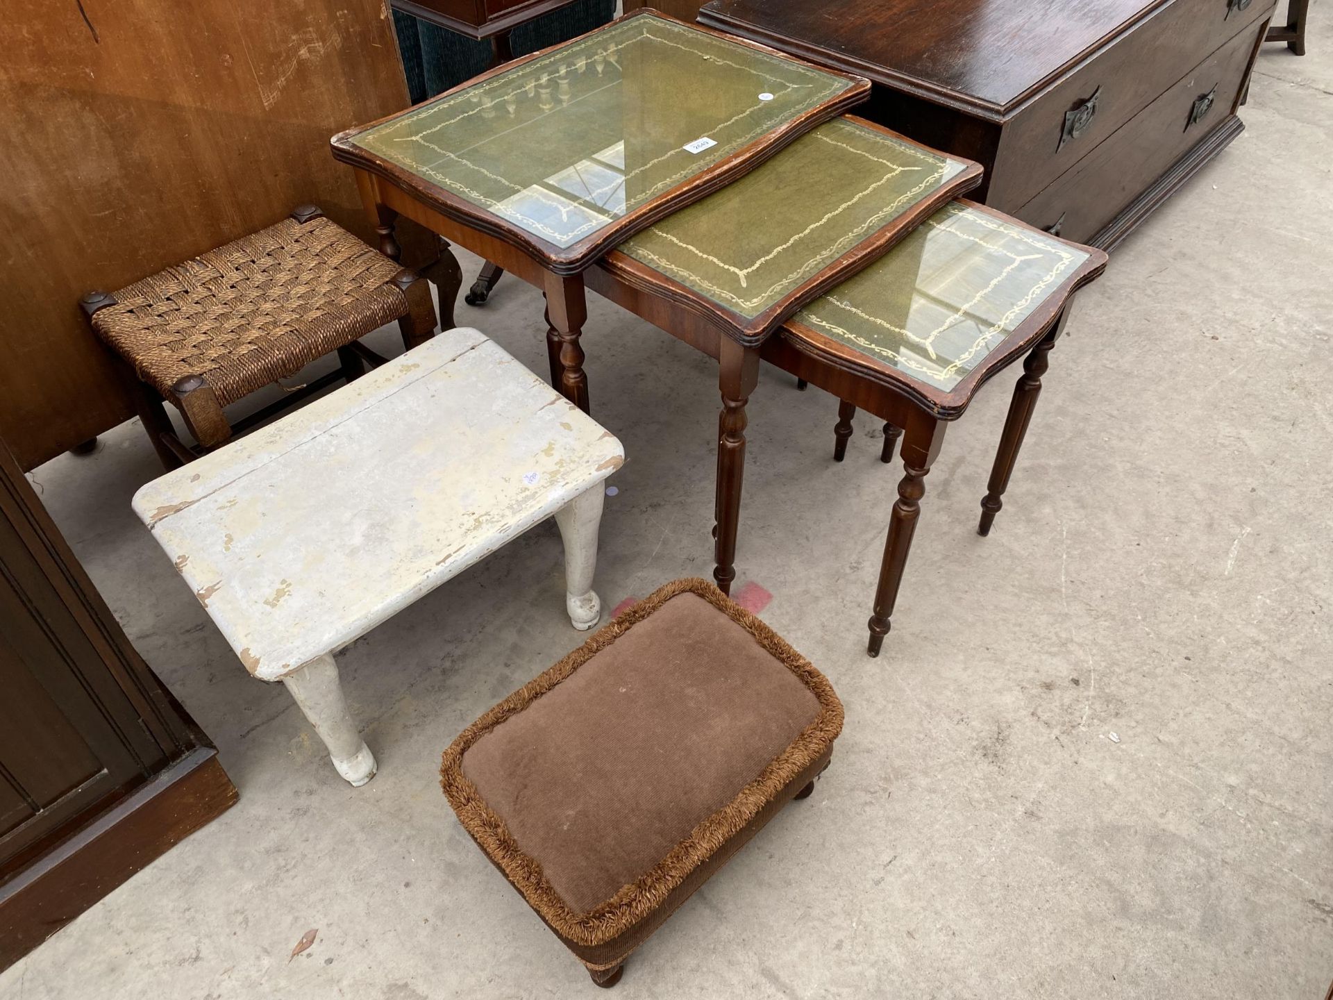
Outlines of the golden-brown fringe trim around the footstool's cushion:
[{"label": "golden-brown fringe trim around the footstool's cushion", "polygon": [[[688,837],[668,851],[665,857],[637,881],[623,887],[615,896],[587,913],[576,913],[547,880],[541,864],[524,853],[509,833],[504,820],[487,805],[477,787],[464,777],[463,755],[481,736],[573,675],[596,653],[680,593],[698,595],[754,636],[764,649],[810,689],[820,703],[820,713],[792,740],[786,749],[764,768],[758,777],[745,785],[730,803],[704,819],[690,831]],[[597,629],[587,643],[555,667],[524,684],[464,729],[444,752],[440,765],[440,787],[459,815],[464,829],[472,835],[477,845],[523,893],[528,905],[537,911],[539,916],[560,936],[575,944],[591,947],[607,944],[631,931],[661,905],[666,895],[680,885],[686,875],[736,836],[784,787],[810,767],[832,745],[841,731],[842,703],[838,701],[828,679],[754,615],[736,604],[706,580],[692,577],[673,580],[657,588],[639,604]]]}]

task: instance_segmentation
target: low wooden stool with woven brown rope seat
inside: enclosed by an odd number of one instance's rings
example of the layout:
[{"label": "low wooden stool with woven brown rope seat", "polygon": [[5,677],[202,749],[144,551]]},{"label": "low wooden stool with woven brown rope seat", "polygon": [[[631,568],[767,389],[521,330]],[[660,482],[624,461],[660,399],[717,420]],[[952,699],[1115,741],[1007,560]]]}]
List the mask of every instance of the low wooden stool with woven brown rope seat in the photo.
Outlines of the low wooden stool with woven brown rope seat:
[{"label": "low wooden stool with woven brown rope seat", "polygon": [[[171,469],[197,453],[176,437],[163,407],[185,419],[200,451],[385,359],[357,343],[399,320],[411,349],[435,332],[428,283],[371,249],[313,205],[288,219],[167,268],[119,292],[83,300],[93,329],[135,385],[139,417]],[[232,425],[223,407],[317,357],[341,367]]]}]

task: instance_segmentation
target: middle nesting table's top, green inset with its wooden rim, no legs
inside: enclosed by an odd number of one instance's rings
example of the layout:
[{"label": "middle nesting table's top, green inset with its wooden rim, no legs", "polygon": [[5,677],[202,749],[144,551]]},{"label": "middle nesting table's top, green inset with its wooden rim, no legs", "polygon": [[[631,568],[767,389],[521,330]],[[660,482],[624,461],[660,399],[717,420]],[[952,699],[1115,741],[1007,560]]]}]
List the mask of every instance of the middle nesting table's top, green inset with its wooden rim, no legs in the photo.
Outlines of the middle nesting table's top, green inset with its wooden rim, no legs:
[{"label": "middle nesting table's top, green inset with its wooden rim, no legs", "polygon": [[758,343],[796,308],[888,251],[981,168],[840,117],[688,208],[632,236],[603,267]]}]

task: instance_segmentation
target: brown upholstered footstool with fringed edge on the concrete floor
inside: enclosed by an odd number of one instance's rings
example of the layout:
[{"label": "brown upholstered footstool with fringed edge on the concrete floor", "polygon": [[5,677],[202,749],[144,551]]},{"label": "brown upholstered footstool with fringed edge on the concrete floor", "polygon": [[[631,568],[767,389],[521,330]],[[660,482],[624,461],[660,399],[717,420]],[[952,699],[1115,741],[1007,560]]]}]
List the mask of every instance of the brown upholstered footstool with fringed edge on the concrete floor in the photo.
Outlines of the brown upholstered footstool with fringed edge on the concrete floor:
[{"label": "brown upholstered footstool with fringed edge on the concrete floor", "polygon": [[828,680],[704,580],[629,608],[444,753],[487,856],[599,985],[790,799],[842,728]]}]

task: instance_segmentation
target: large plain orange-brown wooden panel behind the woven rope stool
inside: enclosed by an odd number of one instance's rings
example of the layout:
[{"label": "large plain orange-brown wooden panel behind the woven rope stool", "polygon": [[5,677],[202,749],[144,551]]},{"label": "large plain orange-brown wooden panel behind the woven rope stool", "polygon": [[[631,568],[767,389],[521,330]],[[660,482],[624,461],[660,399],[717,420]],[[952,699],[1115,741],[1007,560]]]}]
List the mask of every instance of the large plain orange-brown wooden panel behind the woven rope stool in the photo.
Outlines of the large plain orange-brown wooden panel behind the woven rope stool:
[{"label": "large plain orange-brown wooden panel behind the woven rope stool", "polygon": [[80,313],[315,201],[369,235],[335,132],[405,107],[380,0],[7,0],[0,435],[23,468],[132,415]]}]

